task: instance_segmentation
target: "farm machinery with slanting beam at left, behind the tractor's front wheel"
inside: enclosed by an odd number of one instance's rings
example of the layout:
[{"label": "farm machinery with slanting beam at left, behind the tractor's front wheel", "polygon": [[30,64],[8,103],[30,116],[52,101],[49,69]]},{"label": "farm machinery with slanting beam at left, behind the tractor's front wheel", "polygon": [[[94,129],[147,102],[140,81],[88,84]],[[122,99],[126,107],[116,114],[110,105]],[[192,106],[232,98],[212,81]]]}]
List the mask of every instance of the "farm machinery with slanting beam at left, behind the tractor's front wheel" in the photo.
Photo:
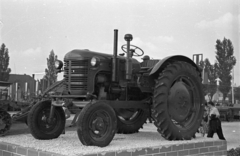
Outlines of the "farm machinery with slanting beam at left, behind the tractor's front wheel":
[{"label": "farm machinery with slanting beam at left, behind the tractor's front wheel", "polygon": [[[5,135],[11,128],[12,123],[16,121],[25,122],[27,124],[27,117],[30,109],[39,101],[48,99],[49,94],[54,91],[58,93],[61,90],[64,81],[58,81],[51,85],[45,91],[37,96],[26,100],[13,100],[10,98],[10,86],[12,83],[0,81],[0,136]],[[11,107],[20,110],[12,116],[7,112]]]}]

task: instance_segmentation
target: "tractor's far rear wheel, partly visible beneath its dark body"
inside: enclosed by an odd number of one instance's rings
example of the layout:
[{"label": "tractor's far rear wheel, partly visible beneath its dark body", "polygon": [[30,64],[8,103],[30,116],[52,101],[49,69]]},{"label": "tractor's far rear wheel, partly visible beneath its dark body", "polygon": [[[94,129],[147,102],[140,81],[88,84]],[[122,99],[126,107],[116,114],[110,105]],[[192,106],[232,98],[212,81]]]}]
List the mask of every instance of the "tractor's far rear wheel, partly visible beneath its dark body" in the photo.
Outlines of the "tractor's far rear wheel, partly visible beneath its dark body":
[{"label": "tractor's far rear wheel, partly visible beneath its dark body", "polygon": [[117,109],[117,133],[137,133],[149,116],[149,112],[142,109]]}]

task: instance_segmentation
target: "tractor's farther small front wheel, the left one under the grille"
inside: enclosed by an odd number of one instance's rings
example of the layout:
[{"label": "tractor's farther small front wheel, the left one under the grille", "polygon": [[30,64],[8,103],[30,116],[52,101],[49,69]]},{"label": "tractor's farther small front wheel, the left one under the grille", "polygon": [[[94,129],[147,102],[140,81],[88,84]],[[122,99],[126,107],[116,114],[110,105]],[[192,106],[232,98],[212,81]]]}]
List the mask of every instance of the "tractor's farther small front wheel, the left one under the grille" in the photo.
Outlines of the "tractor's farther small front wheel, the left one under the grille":
[{"label": "tractor's farther small front wheel, the left one under the grille", "polygon": [[51,101],[35,104],[28,114],[28,127],[36,139],[49,140],[58,138],[65,128],[65,113],[62,107],[56,107],[51,122],[48,121]]}]

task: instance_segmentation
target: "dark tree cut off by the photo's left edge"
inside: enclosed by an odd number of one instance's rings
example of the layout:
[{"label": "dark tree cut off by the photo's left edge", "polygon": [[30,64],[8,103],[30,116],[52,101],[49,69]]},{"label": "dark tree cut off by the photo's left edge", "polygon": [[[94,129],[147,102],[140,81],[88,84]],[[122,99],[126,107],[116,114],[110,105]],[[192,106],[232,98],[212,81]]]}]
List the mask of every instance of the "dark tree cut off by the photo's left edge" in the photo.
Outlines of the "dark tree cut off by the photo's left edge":
[{"label": "dark tree cut off by the photo's left edge", "polygon": [[8,49],[3,43],[0,48],[0,81],[8,81],[9,74],[11,72],[11,69],[8,68],[8,65],[9,65]]}]

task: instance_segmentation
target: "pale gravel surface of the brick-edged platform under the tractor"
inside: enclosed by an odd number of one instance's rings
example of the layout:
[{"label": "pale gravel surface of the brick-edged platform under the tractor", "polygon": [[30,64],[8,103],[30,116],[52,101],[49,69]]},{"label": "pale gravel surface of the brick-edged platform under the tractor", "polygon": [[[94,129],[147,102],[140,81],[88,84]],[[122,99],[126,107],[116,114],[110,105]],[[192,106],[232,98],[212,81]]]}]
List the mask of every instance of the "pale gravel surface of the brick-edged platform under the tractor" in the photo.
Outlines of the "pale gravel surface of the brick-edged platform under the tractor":
[{"label": "pale gravel surface of the brick-edged platform under the tractor", "polygon": [[52,140],[36,140],[31,134],[8,135],[0,139],[1,141],[14,143],[23,147],[31,147],[43,151],[59,153],[68,156],[79,154],[89,154],[98,152],[110,152],[126,149],[138,149],[151,146],[167,146],[171,144],[182,144],[187,142],[201,142],[205,140],[213,140],[202,137],[191,141],[166,141],[157,132],[142,131],[131,135],[115,135],[111,144],[107,147],[100,148],[95,146],[84,146],[78,139],[75,131],[67,131],[65,135],[61,135],[57,139]]}]

